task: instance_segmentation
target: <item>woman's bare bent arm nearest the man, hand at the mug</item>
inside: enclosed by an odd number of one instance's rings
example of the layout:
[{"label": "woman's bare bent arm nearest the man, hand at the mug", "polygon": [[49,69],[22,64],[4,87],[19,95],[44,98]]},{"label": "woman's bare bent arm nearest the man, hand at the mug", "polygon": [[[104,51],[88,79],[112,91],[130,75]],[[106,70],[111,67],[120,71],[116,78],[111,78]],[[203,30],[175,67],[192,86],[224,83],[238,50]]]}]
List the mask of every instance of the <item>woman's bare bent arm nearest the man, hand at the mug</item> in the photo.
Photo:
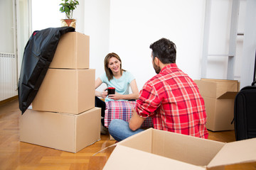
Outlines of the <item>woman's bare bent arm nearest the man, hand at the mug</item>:
[{"label": "woman's bare bent arm nearest the man, hand at the mug", "polygon": [[130,86],[132,89],[132,94],[110,94],[109,98],[114,100],[131,100],[139,98],[139,90],[135,79],[131,81]]}]

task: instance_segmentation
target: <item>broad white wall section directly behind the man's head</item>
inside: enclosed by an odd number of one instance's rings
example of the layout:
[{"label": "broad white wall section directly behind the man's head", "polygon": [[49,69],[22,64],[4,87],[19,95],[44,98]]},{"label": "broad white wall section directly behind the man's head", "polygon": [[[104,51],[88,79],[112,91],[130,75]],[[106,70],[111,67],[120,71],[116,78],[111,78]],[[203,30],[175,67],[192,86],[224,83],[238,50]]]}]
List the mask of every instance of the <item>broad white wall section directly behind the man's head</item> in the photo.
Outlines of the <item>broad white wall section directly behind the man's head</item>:
[{"label": "broad white wall section directly behind the man's head", "polygon": [[178,67],[200,78],[204,0],[111,0],[110,51],[132,72],[139,89],[155,75],[149,45],[168,38],[177,47]]}]

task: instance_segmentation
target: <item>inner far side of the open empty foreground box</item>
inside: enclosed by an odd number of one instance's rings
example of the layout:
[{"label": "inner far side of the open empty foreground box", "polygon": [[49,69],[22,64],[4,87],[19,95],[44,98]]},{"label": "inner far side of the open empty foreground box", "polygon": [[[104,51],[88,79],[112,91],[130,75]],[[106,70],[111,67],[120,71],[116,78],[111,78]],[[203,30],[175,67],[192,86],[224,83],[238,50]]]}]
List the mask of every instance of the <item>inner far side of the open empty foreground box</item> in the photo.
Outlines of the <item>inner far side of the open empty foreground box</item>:
[{"label": "inner far side of the open empty foreground box", "polygon": [[164,130],[154,129],[153,134],[151,153],[196,166],[208,165],[215,154],[225,145],[223,142]]}]

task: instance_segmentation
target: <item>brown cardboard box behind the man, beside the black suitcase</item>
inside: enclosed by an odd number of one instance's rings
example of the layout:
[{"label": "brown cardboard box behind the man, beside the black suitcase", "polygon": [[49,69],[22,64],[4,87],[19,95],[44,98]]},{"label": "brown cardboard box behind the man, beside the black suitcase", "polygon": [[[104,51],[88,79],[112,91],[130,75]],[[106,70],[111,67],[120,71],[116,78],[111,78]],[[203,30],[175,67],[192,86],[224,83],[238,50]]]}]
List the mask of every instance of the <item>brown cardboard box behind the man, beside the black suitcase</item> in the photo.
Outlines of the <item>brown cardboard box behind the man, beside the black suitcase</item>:
[{"label": "brown cardboard box behind the man, beside the black suitcase", "polygon": [[206,105],[206,128],[212,131],[234,130],[235,96],[240,90],[236,80],[195,80]]}]

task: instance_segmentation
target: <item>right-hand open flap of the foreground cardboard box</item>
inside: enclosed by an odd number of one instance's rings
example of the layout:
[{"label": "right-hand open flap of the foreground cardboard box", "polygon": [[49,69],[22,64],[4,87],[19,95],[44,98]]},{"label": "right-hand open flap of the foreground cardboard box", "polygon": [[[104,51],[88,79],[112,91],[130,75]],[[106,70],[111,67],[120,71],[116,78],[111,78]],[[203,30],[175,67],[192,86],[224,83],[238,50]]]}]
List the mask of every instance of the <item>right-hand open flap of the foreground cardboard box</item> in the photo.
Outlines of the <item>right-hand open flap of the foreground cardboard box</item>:
[{"label": "right-hand open flap of the foreground cardboard box", "polygon": [[208,167],[256,161],[256,138],[227,143]]}]

